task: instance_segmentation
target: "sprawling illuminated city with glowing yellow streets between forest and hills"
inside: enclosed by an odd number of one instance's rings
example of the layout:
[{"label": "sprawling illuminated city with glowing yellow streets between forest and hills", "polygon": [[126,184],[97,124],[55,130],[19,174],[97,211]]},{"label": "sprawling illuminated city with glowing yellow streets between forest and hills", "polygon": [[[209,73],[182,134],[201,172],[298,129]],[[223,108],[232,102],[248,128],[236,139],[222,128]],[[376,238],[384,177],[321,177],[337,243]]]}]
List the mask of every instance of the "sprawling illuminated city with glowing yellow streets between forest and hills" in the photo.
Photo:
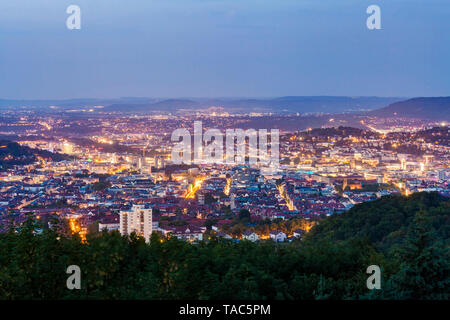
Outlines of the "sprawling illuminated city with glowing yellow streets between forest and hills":
[{"label": "sprawling illuminated city with glowing yellow streets between forest and hills", "polygon": [[[322,115],[320,127],[292,130],[283,123],[308,116],[279,116],[273,124],[280,128],[280,165],[268,168],[248,161],[176,165],[170,136],[177,128],[192,130],[199,119],[204,130],[247,128],[275,114],[129,117],[87,112],[89,116],[80,111],[69,118],[32,110],[3,115],[2,135],[48,154],[22,165],[11,154],[3,158],[2,221],[19,222],[26,213],[59,217],[85,241],[88,232],[120,230],[120,213],[141,205],[153,210],[153,232],[166,237],[196,241],[206,233],[243,239],[250,232],[264,240],[279,225],[233,229],[241,210],[261,224],[309,221],[304,224],[307,232],[323,217],[384,195],[450,194],[448,125],[442,121],[398,118],[393,125],[392,119],[370,115]],[[2,143],[4,150],[8,143]],[[294,230],[287,232],[286,241],[295,239]]]}]

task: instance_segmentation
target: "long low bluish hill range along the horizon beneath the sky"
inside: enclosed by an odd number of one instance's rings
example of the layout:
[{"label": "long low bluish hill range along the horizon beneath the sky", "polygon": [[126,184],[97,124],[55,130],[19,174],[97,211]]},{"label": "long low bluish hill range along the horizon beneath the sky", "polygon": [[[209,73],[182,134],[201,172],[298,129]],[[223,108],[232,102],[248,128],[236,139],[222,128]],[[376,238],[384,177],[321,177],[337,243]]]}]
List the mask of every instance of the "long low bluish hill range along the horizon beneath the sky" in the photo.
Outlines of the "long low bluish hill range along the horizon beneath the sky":
[{"label": "long low bluish hill range along the horizon beneath the sky", "polygon": [[[276,98],[119,98],[70,100],[5,100],[0,108],[35,107],[46,111],[104,106],[105,111],[116,112],[177,112],[180,110],[206,110],[221,107],[229,112],[286,112],[286,113],[342,113],[381,108],[402,98],[289,96]],[[50,109],[50,106],[53,106]],[[55,108],[56,107],[56,108]]]}]

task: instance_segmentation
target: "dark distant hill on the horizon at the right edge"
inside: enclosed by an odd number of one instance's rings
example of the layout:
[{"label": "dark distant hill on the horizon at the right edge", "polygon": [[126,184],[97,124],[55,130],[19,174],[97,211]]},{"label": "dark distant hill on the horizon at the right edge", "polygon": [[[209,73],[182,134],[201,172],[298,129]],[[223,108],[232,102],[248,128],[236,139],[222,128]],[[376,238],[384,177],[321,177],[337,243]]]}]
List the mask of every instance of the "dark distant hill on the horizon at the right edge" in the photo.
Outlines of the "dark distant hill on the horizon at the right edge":
[{"label": "dark distant hill on the horizon at the right edge", "polygon": [[450,121],[450,97],[413,98],[394,102],[369,115]]}]

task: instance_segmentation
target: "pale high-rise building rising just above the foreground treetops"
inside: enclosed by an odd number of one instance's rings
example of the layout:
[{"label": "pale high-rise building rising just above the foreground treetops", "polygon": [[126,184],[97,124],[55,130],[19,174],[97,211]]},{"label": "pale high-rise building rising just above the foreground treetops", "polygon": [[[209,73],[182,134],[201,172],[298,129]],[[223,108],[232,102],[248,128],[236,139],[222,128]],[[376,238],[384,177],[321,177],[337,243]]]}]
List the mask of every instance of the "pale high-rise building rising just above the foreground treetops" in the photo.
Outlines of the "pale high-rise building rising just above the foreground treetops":
[{"label": "pale high-rise building rising just above the foreground treetops", "polygon": [[120,234],[130,235],[135,232],[150,242],[152,235],[152,209],[144,205],[133,205],[130,210],[120,211]]}]

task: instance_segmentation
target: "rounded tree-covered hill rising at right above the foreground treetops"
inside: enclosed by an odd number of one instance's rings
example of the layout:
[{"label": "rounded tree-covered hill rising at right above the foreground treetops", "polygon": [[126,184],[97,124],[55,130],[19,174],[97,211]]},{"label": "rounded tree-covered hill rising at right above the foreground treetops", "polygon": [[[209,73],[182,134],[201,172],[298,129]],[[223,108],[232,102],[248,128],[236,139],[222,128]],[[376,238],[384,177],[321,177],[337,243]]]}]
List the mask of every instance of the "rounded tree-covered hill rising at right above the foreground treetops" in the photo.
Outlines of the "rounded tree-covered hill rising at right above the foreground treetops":
[{"label": "rounded tree-covered hill rising at right above the foreground treetops", "polygon": [[404,243],[415,215],[427,211],[437,236],[449,243],[450,199],[436,192],[409,197],[392,195],[354,206],[341,215],[321,221],[307,235],[307,241],[339,241],[367,238],[382,250]]}]

